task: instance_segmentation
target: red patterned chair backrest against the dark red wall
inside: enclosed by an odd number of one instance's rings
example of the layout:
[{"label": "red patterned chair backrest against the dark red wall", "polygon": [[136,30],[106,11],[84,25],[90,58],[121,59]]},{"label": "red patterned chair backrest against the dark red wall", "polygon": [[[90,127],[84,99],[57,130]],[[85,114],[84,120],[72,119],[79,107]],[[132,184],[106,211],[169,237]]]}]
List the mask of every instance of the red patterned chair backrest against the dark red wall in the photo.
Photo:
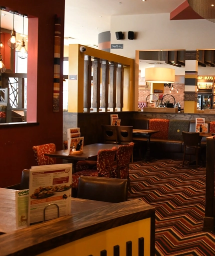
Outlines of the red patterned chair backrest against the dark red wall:
[{"label": "red patterned chair backrest against the dark red wall", "polygon": [[43,144],[32,147],[37,165],[52,165],[56,164],[56,159],[48,156],[44,156],[45,153],[52,153],[56,151],[55,144]]}]

